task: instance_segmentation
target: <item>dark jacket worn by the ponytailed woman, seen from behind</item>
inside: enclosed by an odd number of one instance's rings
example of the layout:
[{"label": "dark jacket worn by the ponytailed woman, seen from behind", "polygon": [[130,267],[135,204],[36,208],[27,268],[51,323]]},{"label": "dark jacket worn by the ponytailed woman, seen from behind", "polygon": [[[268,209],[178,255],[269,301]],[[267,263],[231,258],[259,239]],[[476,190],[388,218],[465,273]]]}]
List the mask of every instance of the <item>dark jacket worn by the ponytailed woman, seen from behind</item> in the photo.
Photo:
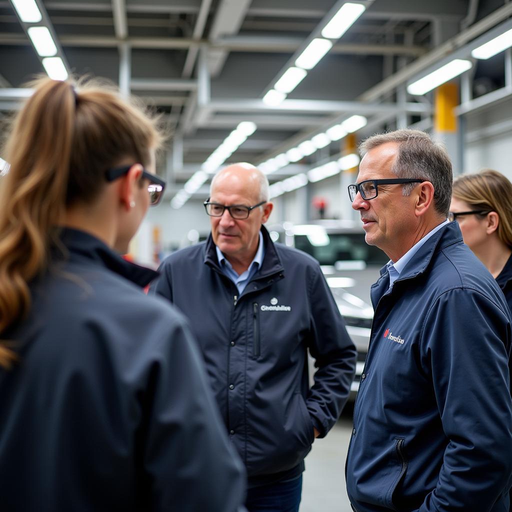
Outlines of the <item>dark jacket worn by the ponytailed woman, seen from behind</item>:
[{"label": "dark jacket worn by the ponytailed woman, seen from behind", "polygon": [[[0,509],[236,510],[244,472],[156,272],[65,230],[0,369]],[[130,282],[132,281],[132,282]]]}]

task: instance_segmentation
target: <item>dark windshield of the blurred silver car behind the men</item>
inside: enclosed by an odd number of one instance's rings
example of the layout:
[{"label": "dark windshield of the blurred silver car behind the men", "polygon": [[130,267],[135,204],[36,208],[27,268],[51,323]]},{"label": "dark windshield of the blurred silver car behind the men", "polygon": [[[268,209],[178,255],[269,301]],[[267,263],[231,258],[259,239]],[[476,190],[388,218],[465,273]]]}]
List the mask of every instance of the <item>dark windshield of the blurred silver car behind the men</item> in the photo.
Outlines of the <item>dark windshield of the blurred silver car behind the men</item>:
[{"label": "dark windshield of the blurred silver car behind the men", "polygon": [[321,265],[363,261],[366,265],[382,266],[389,261],[378,247],[366,243],[364,233],[327,233],[321,241],[313,242],[306,234],[295,235],[295,247],[311,254]]}]

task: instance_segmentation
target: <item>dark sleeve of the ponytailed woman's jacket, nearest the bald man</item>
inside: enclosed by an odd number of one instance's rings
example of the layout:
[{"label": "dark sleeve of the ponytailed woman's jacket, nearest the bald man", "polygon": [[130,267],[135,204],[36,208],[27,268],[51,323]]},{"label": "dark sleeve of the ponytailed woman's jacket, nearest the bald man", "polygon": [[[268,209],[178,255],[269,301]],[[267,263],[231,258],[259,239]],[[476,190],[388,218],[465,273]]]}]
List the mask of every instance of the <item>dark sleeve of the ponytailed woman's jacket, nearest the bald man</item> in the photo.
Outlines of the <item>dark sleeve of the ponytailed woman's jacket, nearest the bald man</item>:
[{"label": "dark sleeve of the ponytailed woman's jacket, nearest the bald man", "polygon": [[183,322],[173,323],[153,348],[140,398],[138,446],[152,502],[145,509],[245,510],[245,470],[229,446],[195,341]]}]

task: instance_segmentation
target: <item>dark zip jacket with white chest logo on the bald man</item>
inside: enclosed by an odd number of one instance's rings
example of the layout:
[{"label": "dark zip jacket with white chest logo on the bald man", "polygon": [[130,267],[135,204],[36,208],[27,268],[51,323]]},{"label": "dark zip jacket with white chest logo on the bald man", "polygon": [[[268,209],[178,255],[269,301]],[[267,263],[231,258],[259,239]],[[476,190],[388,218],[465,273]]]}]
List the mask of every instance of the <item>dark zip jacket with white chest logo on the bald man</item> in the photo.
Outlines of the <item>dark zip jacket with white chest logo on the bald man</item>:
[{"label": "dark zip jacket with white chest logo on the bald man", "polygon": [[300,475],[313,426],[327,434],[347,400],[356,359],[318,262],[262,233],[265,258],[240,296],[211,235],[171,254],[152,285],[189,319],[251,487]]}]

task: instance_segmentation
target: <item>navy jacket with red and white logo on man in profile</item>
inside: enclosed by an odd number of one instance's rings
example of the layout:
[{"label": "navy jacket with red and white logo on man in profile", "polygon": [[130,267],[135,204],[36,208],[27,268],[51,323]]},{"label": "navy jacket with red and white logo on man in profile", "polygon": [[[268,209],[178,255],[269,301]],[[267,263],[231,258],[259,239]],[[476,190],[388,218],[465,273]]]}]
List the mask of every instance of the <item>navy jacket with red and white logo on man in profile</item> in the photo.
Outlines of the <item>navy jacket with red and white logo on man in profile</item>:
[{"label": "navy jacket with red and white logo on man in profile", "polygon": [[512,474],[510,313],[457,222],[436,232],[375,315],[354,410],[357,512],[505,512]]}]

